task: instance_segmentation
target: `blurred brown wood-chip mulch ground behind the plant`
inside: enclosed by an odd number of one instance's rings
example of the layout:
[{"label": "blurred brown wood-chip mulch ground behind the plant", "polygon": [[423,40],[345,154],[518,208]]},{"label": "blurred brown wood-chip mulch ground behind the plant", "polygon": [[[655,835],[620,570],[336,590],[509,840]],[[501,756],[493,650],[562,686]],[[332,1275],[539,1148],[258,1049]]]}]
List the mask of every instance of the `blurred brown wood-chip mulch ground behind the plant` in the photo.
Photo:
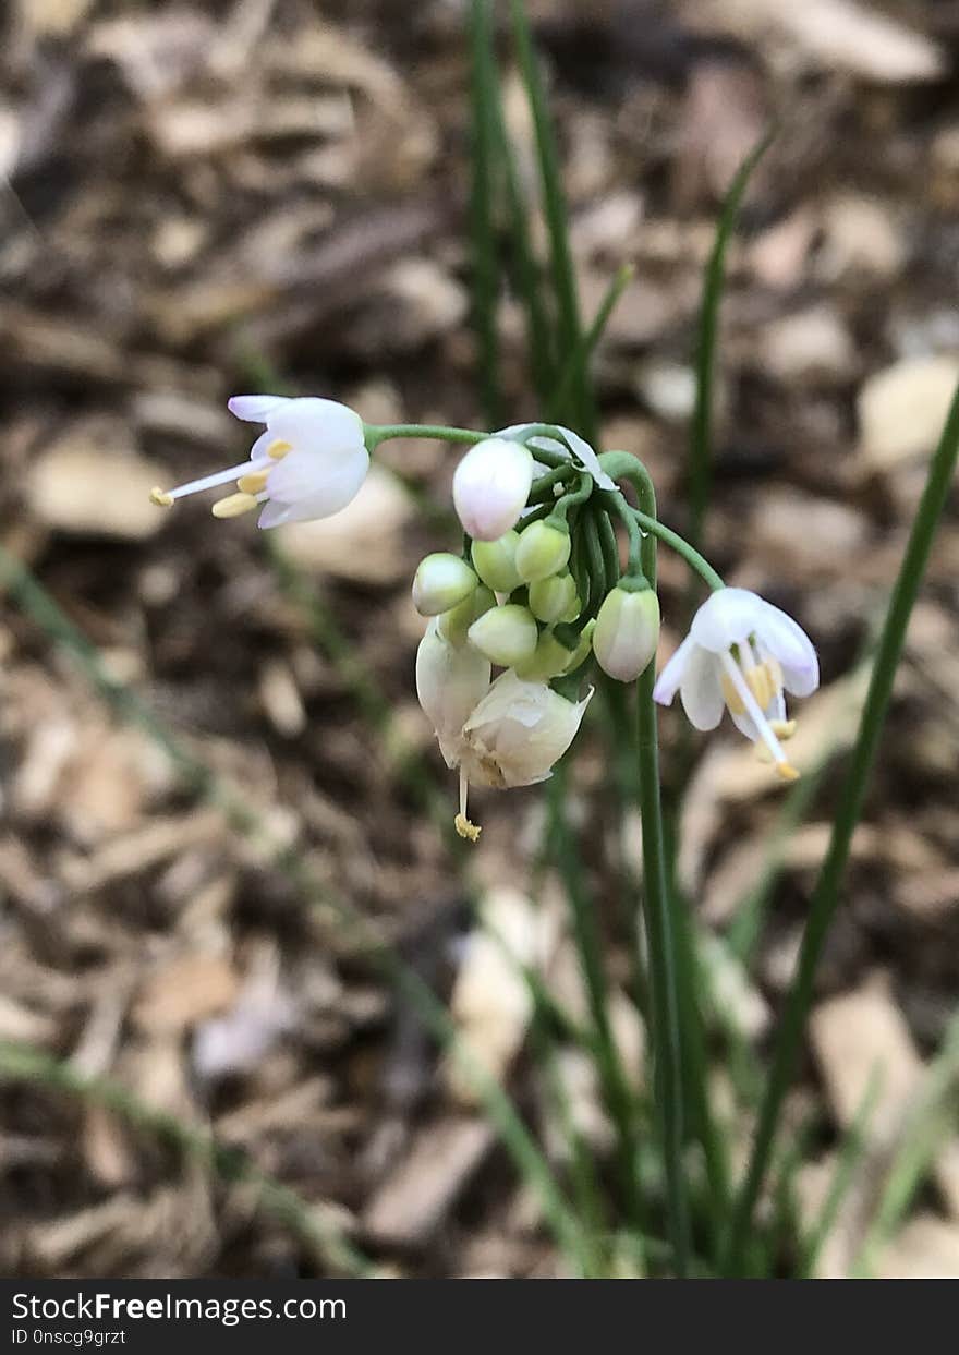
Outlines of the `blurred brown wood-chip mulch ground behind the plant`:
[{"label": "blurred brown wood-chip mulch ground behind the plant", "polygon": [[[861,660],[959,377],[959,4],[531,4],[558,122],[582,305],[635,264],[596,355],[603,444],[641,455],[681,530],[692,358],[722,196],[772,122],[729,259],[708,554],[814,637],[802,821],[725,732],[662,718],[694,757],[679,879],[727,1019],[760,1051],[790,980],[861,699]],[[458,0],[12,0],[0,19],[0,541],[188,753],[448,999],[550,1141],[530,1009],[484,944],[410,749],[455,787],[416,706],[416,562],[444,549],[455,451],[383,449],[336,519],[257,534],[153,485],[241,459],[228,396],[322,394],[371,423],[478,425],[469,324],[469,66]],[[504,50],[535,195],[532,129]],[[543,240],[536,218],[538,238]],[[519,304],[497,313],[504,423],[535,416]],[[413,491],[410,493],[409,491]],[[436,504],[435,520],[424,504]],[[662,656],[687,619],[661,557]],[[939,534],[790,1114],[796,1209],[882,1070],[883,1179],[959,981],[959,522]],[[555,1275],[469,1087],[295,874],[237,832],[157,740],[116,718],[0,599],[0,1038],[110,1076],[331,1213],[402,1275]],[[614,988],[638,822],[593,733],[572,818]],[[582,984],[538,790],[478,794],[481,906],[570,1005]],[[624,828],[624,835],[619,829]],[[626,844],[623,864],[620,843]],[[745,901],[745,902],[744,902]],[[744,911],[745,908],[745,911]],[[744,920],[745,919],[745,920]],[[757,920],[759,919],[759,920]],[[738,930],[737,930],[738,928]],[[734,946],[723,944],[733,936]],[[710,948],[715,943],[715,950]],[[730,958],[736,953],[748,963]],[[615,1008],[631,1066],[628,1003]],[[592,1070],[561,1066],[591,1150]],[[729,1069],[717,1062],[719,1095]],[[322,1274],[302,1236],[102,1106],[0,1084],[0,1268],[31,1276]],[[744,1126],[744,1145],[745,1140]],[[845,1274],[870,1173],[819,1274]],[[876,1262],[959,1275],[945,1133]]]}]

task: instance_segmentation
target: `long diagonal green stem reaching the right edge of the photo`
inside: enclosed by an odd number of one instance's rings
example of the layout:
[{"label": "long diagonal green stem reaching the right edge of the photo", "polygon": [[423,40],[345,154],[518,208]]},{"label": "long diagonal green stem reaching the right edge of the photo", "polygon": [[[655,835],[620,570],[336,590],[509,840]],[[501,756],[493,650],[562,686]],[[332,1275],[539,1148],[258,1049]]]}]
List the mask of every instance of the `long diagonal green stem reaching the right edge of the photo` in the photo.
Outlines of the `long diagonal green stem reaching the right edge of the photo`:
[{"label": "long diagonal green stem reaching the right edge of the photo", "polygon": [[932,458],[916,519],[909,534],[902,565],[893,588],[886,623],[882,630],[870,690],[859,722],[859,736],[852,752],[845,785],[838,798],[825,860],[819,870],[809,906],[809,921],[802,939],[796,977],[779,1022],[769,1083],[760,1110],[749,1169],[740,1190],[729,1236],[726,1274],[737,1274],[752,1226],[753,1210],[765,1179],[769,1153],[779,1123],[783,1099],[792,1077],[806,1014],[813,1000],[813,981],[822,946],[840,901],[840,885],[849,858],[849,846],[863,812],[866,789],[879,749],[886,713],[902,654],[909,617],[918,595],[929,550],[952,485],[959,458],[959,389],[952,398],[943,436]]}]

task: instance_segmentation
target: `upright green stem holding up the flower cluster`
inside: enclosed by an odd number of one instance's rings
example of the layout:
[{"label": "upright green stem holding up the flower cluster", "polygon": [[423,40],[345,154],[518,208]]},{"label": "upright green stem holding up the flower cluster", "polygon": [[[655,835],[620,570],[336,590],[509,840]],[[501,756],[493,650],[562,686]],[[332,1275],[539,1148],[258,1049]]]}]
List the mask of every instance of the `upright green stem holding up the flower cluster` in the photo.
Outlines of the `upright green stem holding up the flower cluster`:
[{"label": "upright green stem holding up the flower cluster", "polygon": [[[635,462],[638,466],[639,463]],[[645,514],[656,519],[656,493],[649,476],[637,474],[637,492]],[[642,543],[642,568],[656,588],[656,537]],[[689,1218],[683,1169],[683,1051],[680,1039],[679,989],[673,919],[666,888],[666,852],[660,804],[660,744],[653,702],[656,664],[650,663],[638,682],[638,768],[639,813],[642,816],[643,920],[649,948],[653,999],[653,1045],[656,1050],[657,1106],[661,1118],[662,1152],[666,1172],[669,1236],[676,1274],[683,1278],[689,1264]]]}]

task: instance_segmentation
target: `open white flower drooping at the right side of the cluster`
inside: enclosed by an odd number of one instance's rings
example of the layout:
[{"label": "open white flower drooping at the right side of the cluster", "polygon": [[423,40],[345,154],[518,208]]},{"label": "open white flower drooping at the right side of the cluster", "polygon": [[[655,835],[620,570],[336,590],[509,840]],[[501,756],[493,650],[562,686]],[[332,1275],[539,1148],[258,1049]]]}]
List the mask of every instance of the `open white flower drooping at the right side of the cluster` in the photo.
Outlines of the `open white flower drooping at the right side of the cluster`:
[{"label": "open white flower drooping at the right side of the cluster", "polygon": [[746,588],[721,588],[692,618],[653,696],[669,706],[679,691],[696,729],[715,729],[725,706],[783,780],[795,780],[799,772],[782,747],[795,732],[783,692],[809,696],[818,686],[819,664],[802,626]]}]

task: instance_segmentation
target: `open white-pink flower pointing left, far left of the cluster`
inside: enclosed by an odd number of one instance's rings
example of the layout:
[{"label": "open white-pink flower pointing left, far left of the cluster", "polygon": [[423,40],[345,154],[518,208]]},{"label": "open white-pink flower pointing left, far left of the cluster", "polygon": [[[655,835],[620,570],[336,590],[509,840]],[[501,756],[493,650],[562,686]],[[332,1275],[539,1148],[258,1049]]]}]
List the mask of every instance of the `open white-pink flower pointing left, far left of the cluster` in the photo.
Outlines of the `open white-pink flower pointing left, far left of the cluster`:
[{"label": "open white-pink flower pointing left, far left of the cluster", "polygon": [[309,518],[331,518],[359,492],[370,469],[363,420],[335,400],[284,396],[233,396],[237,419],[267,425],[249,461],[176,489],[154,489],[153,503],[168,508],[200,489],[237,482],[237,493],[213,505],[214,518],[237,518],[264,504],[260,527]]}]

